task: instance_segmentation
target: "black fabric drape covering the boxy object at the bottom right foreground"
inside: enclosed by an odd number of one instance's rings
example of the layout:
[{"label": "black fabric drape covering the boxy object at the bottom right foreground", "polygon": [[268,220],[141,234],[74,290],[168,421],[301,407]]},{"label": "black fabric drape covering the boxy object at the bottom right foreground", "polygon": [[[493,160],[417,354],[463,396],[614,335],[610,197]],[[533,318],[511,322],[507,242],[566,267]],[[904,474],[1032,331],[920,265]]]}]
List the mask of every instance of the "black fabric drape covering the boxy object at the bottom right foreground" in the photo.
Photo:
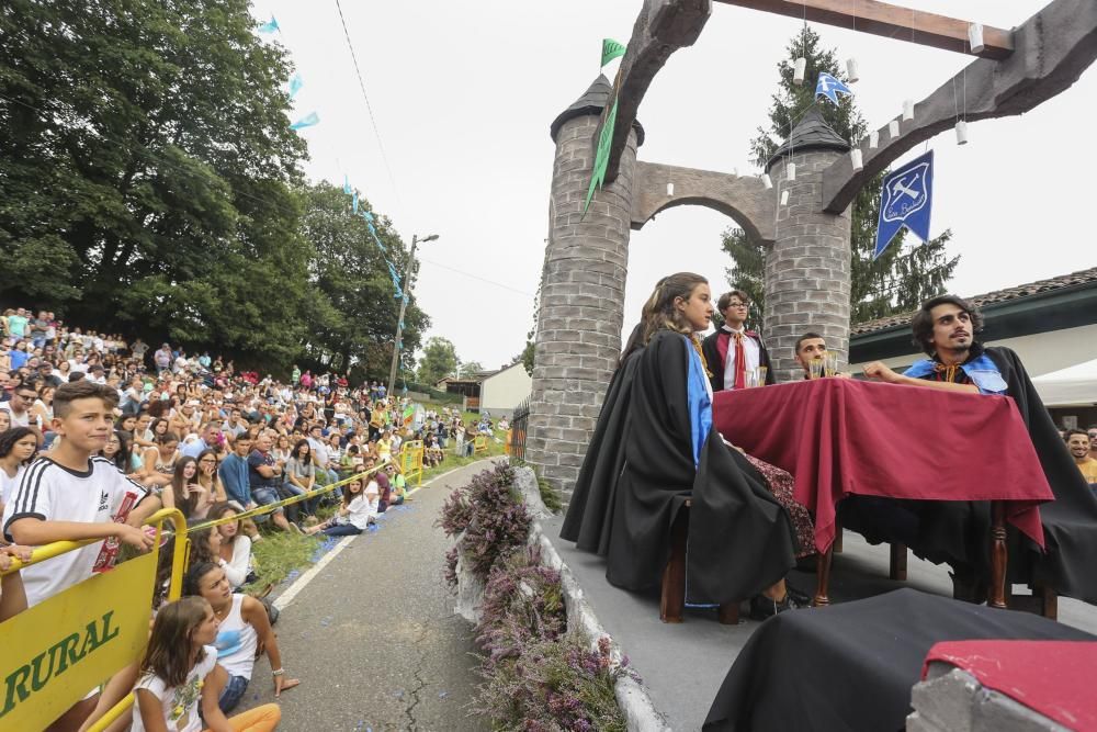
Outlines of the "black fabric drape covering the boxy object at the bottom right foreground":
[{"label": "black fabric drape covering the boxy object at the bottom right foreground", "polygon": [[[762,623],[709,710],[705,730],[902,730],[929,649],[960,640],[1095,641],[1026,612],[898,589]],[[1064,669],[1064,673],[1067,673]]]}]

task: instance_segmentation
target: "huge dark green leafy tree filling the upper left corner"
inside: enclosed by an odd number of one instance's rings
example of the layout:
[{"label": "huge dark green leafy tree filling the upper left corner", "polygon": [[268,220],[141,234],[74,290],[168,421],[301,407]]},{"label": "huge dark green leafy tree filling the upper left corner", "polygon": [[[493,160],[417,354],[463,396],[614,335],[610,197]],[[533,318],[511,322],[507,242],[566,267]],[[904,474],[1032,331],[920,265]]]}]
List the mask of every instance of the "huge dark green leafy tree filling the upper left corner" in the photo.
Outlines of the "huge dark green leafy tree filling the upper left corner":
[{"label": "huge dark green leafy tree filling the upper left corner", "polygon": [[3,4],[5,294],[287,364],[315,302],[306,148],[285,52],[255,25],[247,0]]}]

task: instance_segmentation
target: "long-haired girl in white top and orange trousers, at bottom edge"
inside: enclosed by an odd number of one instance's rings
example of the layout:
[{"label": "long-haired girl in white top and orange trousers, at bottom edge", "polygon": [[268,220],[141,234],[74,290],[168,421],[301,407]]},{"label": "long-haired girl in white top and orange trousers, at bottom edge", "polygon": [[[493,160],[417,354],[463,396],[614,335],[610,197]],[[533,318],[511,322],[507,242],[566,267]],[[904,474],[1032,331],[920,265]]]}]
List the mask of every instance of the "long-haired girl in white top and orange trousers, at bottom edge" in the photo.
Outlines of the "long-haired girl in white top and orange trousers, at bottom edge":
[{"label": "long-haired girl in white top and orange trousers, at bottom edge", "polygon": [[[184,597],[160,609],[134,687],[134,732],[203,728],[269,732],[278,727],[282,711],[273,703],[226,719],[217,698],[225,684],[226,658],[218,657],[217,647],[211,645],[220,634],[214,609],[201,597]],[[290,688],[278,679],[276,690]]]}]

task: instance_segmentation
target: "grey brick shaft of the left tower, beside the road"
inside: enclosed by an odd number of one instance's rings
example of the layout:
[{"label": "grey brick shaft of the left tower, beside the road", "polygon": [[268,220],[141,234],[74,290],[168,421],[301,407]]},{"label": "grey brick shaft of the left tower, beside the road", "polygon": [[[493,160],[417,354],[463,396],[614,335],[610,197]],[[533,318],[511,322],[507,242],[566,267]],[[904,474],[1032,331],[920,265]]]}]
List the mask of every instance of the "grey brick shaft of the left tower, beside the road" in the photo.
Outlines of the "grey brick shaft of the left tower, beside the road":
[{"label": "grey brick shaft of the left tower, beside the road", "polygon": [[617,180],[595,193],[584,216],[597,127],[597,116],[579,116],[556,136],[527,438],[527,459],[565,500],[617,368],[624,317],[636,133]]}]

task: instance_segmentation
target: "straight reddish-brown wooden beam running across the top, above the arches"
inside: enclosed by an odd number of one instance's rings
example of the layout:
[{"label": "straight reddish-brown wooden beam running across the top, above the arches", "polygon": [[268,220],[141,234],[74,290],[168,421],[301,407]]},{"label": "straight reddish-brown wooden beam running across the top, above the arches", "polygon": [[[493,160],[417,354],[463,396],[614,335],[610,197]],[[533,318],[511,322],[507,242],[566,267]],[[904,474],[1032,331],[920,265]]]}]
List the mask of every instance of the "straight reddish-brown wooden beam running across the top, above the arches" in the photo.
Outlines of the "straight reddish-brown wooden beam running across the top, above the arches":
[{"label": "straight reddish-brown wooden beam running across the top, above the arches", "polygon": [[[970,21],[901,8],[880,0],[719,0],[719,2],[923,46],[962,54],[971,53],[968,46]],[[1000,59],[1013,52],[1011,31],[984,25],[983,50],[972,55]]]}]

